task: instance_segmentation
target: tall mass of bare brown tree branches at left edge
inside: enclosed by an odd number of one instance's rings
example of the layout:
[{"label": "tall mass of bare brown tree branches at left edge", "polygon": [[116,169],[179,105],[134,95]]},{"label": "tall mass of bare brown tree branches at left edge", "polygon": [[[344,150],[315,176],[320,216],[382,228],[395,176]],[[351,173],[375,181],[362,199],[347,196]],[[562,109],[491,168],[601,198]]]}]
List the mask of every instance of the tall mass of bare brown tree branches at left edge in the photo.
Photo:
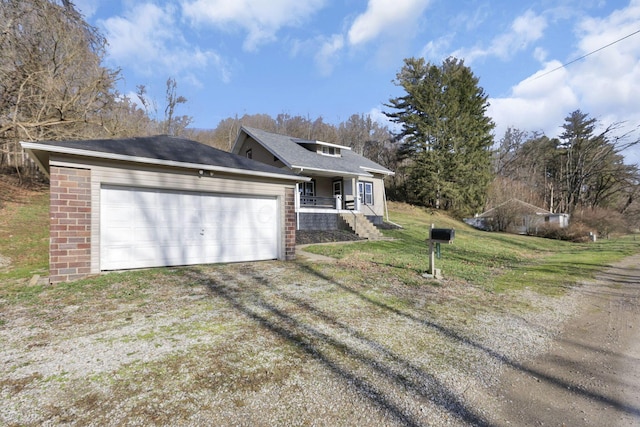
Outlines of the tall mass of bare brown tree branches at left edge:
[{"label": "tall mass of bare brown tree branches at left edge", "polygon": [[70,1],[0,0],[0,138],[59,140],[110,134],[118,70],[106,40]]}]

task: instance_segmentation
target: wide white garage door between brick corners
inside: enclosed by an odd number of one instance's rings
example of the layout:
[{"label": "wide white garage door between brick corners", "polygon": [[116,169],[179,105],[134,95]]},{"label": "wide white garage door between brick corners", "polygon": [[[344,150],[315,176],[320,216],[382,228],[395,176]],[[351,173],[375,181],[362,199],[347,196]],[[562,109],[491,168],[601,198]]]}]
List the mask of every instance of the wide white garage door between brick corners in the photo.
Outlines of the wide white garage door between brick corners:
[{"label": "wide white garage door between brick corners", "polygon": [[105,186],[100,269],[278,257],[276,198]]}]

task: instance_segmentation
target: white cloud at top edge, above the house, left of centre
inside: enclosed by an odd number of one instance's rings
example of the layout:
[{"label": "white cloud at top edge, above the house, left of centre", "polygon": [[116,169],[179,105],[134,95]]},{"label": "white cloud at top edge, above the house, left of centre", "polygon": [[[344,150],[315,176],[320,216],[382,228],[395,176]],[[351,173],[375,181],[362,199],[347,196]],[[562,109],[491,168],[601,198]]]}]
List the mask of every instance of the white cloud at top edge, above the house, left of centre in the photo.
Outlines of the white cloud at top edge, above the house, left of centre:
[{"label": "white cloud at top edge, above the house, left of centre", "polygon": [[244,49],[254,51],[276,40],[278,30],[299,26],[324,6],[325,0],[184,0],[184,16],[196,24],[247,32]]}]

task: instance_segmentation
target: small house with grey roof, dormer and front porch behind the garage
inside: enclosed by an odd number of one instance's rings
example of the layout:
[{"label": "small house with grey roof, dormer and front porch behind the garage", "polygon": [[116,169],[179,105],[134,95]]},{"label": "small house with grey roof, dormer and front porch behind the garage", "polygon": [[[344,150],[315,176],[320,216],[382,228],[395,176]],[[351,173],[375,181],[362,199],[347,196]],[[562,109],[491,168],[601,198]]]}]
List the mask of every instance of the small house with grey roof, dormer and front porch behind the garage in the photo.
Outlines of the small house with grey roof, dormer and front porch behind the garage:
[{"label": "small house with grey roof, dormer and front porch behind the garage", "polygon": [[350,227],[366,238],[386,211],[384,178],[394,172],[350,147],[243,126],[232,152],[309,178],[296,189],[298,230]]}]

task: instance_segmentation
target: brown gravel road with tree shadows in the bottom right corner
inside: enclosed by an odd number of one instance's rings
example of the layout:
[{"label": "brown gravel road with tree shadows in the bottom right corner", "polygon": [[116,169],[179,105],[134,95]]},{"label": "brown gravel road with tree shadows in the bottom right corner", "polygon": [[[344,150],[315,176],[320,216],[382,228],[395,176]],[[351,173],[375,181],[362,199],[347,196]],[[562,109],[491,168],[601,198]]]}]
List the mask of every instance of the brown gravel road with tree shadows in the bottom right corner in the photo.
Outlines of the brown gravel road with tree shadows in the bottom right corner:
[{"label": "brown gravel road with tree shadows in the bottom right corner", "polygon": [[580,294],[579,314],[548,351],[505,368],[495,425],[640,425],[640,256]]}]

